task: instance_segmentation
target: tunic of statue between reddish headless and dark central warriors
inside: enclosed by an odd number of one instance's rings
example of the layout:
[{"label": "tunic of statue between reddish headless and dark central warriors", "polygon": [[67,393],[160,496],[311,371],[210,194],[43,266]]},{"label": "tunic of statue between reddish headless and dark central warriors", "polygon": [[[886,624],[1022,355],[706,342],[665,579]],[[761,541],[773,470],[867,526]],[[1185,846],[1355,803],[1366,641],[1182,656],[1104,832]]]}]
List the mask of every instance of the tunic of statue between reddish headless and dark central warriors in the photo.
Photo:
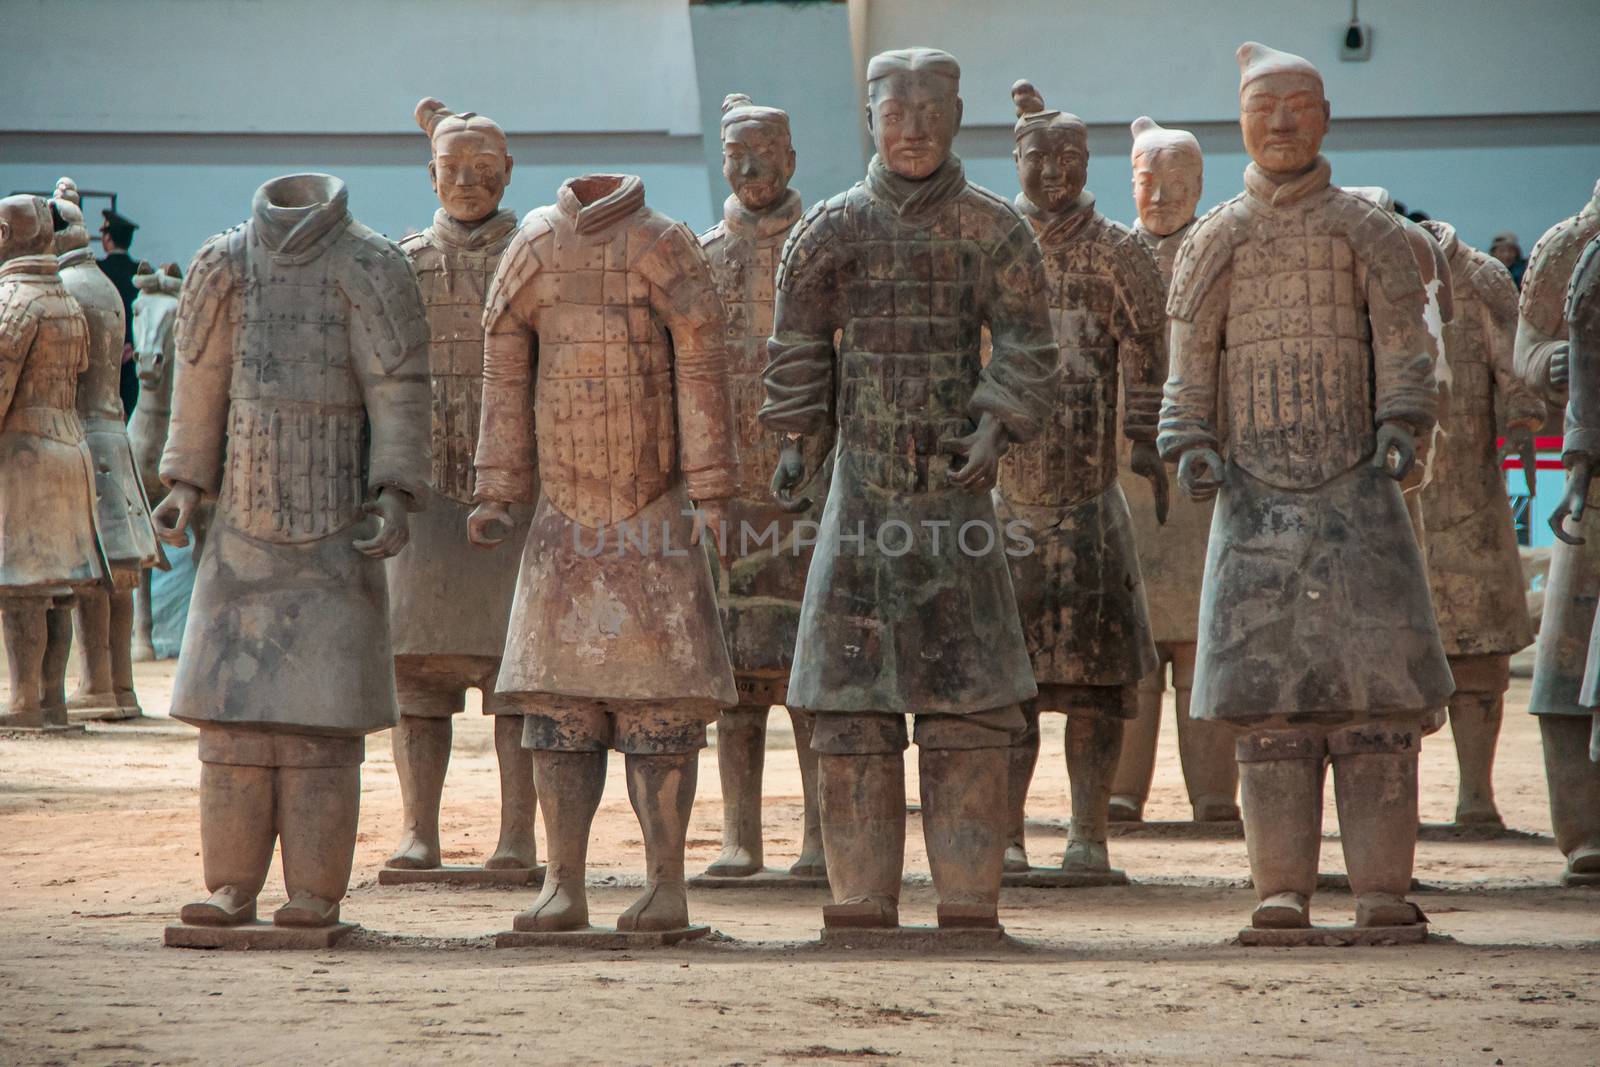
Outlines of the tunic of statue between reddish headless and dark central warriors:
[{"label": "tunic of statue between reddish headless and dark central warriors", "polygon": [[795,496],[811,499],[811,507],[803,515],[778,507],[771,478],[781,440],[755,418],[766,398],[762,371],[766,366],[766,339],[773,336],[778,253],[800,221],[800,194],[794,189],[758,213],[741,205],[738,197],[728,197],[722,222],[699,238],[728,310],[728,392],[733,397],[739,459],[730,530],[736,537],[750,531],[746,542],[736,541],[739,550],[733,565],[718,569],[718,603],[739,702],[758,707],[786,699],[800,598],[811,563],[806,526],[797,528],[795,523],[816,522],[827,493],[826,445],[818,448],[819,442],[813,438],[806,456],[810,477],[795,491]]}]

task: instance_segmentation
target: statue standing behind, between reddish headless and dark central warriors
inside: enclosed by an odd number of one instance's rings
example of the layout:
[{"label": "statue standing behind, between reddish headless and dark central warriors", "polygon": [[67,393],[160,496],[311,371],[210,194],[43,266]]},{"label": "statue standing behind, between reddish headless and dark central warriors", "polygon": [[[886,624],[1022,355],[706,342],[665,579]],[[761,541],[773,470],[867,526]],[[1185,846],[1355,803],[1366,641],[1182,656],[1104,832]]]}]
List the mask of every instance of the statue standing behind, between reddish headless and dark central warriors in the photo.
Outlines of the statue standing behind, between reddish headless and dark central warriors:
[{"label": "statue standing behind, between reddish headless and dark central warriors", "polygon": [[[789,112],[758,107],[742,93],[722,104],[722,173],[733,194],[722,206],[722,222],[701,234],[712,277],[728,309],[728,389],[739,451],[739,491],[730,501],[730,530],[763,533],[760,547],[746,545],[733,566],[718,574],[723,635],[733,657],[739,705],[717,720],[717,769],[722,774],[722,856],[707,875],[739,877],[763,870],[762,765],[766,715],[787,697],[800,598],[811,550],[794,530],[794,512],[773,502],[768,486],[778,462],[778,435],[757,422],[762,406],[762,368],[773,334],[773,277],[778,251],[800,221],[800,194],[789,187],[795,150]],[[813,448],[822,445],[813,438]],[[826,445],[824,445],[826,448]],[[821,456],[808,469],[819,470]],[[808,518],[818,518],[821,486],[805,486]],[[771,530],[771,537],[765,531]],[[792,710],[800,787],[805,798],[800,859],[790,875],[819,878],[822,824],[816,809],[816,753],[811,750],[810,712]]]}]

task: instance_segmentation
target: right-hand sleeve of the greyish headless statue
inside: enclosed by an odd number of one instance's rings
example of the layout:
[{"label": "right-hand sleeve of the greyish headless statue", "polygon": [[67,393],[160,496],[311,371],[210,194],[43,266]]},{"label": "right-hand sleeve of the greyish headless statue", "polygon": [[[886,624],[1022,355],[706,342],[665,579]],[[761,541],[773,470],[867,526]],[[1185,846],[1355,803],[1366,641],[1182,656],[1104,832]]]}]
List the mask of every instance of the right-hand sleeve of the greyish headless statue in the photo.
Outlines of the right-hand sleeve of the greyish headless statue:
[{"label": "right-hand sleeve of the greyish headless statue", "polygon": [[405,253],[376,235],[370,240],[382,243],[376,254],[355,259],[349,280],[357,294],[350,355],[371,430],[366,490],[398,490],[411,510],[421,510],[432,474],[427,309]]}]

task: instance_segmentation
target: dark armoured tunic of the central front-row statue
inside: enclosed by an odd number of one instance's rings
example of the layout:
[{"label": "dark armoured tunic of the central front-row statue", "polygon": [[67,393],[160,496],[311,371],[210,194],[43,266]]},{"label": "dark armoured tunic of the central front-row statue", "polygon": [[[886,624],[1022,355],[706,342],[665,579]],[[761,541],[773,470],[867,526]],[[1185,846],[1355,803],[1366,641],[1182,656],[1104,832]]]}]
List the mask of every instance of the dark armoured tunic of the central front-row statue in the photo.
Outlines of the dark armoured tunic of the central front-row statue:
[{"label": "dark armoured tunic of the central front-row statue", "polygon": [[762,422],[837,427],[790,707],[965,715],[1037,694],[1006,571],[1019,545],[990,494],[949,483],[944,442],[982,414],[1014,445],[1038,437],[1059,374],[1045,293],[1027,222],[954,157],[923,181],[874,158],[789,238]]}]

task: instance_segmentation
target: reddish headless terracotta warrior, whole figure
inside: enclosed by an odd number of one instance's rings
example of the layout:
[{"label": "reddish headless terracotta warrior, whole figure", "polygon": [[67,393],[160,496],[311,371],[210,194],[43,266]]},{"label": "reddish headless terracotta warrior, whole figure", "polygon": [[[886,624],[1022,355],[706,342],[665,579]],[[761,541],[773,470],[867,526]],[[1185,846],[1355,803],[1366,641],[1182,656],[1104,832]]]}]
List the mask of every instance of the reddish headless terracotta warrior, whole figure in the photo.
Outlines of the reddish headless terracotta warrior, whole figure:
[{"label": "reddish headless terracotta warrior, whole figure", "polygon": [[645,205],[645,182],[586,174],[523,219],[483,325],[472,541],[504,541],[510,507],[538,498],[499,672],[549,846],[517,929],[589,926],[610,749],[648,865],[618,929],[682,929],[698,753],[736,702],[699,526],[723,545],[736,488],[728,317],[694,234]]}]

